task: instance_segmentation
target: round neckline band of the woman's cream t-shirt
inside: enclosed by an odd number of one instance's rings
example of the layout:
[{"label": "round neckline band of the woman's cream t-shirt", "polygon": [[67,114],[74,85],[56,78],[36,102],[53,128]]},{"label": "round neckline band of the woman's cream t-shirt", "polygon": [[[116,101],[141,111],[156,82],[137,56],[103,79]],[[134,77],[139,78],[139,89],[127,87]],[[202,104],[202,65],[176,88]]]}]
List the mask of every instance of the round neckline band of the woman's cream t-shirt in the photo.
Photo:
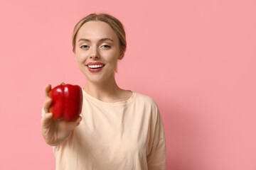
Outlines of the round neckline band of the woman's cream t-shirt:
[{"label": "round neckline band of the woman's cream t-shirt", "polygon": [[[129,90],[132,91],[132,90]],[[103,104],[106,106],[124,106],[124,105],[128,105],[129,103],[131,103],[132,101],[134,101],[134,98],[136,96],[136,92],[132,91],[132,96],[130,96],[127,100],[125,101],[116,101],[116,102],[105,102],[105,101],[100,101],[99,99],[91,96],[90,94],[88,94],[84,89],[82,89],[82,96],[89,99],[90,101],[94,101],[95,103],[99,103],[99,104]]]}]

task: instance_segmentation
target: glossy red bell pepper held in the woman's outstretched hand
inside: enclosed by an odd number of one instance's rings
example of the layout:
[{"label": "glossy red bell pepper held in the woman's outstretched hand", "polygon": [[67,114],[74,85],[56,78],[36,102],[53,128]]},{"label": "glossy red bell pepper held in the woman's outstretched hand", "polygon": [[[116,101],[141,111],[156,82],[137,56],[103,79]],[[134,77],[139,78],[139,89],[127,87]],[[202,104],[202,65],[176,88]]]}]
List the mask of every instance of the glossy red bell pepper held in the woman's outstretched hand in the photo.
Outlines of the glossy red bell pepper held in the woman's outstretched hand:
[{"label": "glossy red bell pepper held in the woman's outstretched hand", "polygon": [[60,84],[49,91],[49,97],[53,99],[50,112],[53,119],[64,118],[70,122],[78,118],[82,111],[82,89],[78,85]]}]

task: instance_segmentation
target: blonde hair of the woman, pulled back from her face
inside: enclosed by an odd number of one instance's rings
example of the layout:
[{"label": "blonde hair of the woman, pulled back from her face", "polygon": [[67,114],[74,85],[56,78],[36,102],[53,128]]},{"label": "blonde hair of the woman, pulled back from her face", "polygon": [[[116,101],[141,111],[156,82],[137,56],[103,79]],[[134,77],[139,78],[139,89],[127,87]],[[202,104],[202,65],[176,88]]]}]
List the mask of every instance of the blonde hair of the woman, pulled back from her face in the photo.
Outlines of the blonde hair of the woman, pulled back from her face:
[{"label": "blonde hair of the woman, pulled back from her face", "polygon": [[110,16],[110,14],[107,13],[90,13],[90,15],[85,16],[85,18],[82,18],[80,21],[78,21],[78,23],[75,25],[72,36],[73,52],[75,53],[75,41],[78,30],[82,27],[84,23],[88,21],[103,21],[105,23],[108,23],[110,27],[114,30],[114,33],[116,33],[117,37],[119,38],[120,54],[122,57],[124,57],[124,52],[127,48],[124,27],[117,18],[114,18],[114,16]]}]

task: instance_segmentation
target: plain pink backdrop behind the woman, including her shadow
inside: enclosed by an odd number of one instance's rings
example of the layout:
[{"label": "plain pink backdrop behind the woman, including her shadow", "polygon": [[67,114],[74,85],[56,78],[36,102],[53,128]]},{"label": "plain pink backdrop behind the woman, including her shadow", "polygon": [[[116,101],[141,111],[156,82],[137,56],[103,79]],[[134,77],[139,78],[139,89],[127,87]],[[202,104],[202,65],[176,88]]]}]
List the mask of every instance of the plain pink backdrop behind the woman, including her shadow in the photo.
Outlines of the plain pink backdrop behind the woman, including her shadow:
[{"label": "plain pink backdrop behind the woman, including her shadow", "polygon": [[117,83],[159,106],[167,169],[256,169],[255,0],[14,0],[0,11],[0,169],[54,169],[43,89],[85,85],[71,36],[94,12],[124,24]]}]

